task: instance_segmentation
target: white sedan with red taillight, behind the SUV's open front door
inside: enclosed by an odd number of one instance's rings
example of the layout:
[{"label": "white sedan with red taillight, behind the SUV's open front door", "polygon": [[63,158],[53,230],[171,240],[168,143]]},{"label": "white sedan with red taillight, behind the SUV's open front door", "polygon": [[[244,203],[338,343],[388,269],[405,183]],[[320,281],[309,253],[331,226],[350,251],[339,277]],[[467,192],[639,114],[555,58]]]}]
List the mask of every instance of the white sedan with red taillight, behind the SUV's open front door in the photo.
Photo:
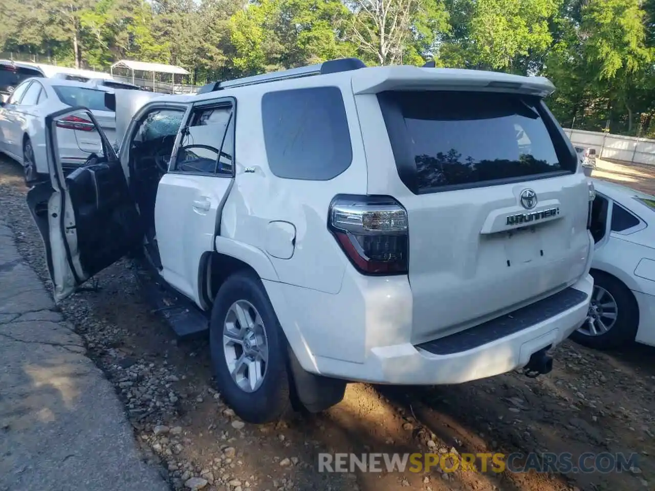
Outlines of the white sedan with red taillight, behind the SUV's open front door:
[{"label": "white sedan with red taillight, behind the SUV's open front door", "polygon": [[[7,102],[0,103],[0,151],[18,160],[26,179],[35,178],[34,162],[45,161],[45,117],[67,107],[84,106],[102,126],[107,137],[115,137],[115,113],[105,106],[102,88],[84,82],[33,78],[16,87]],[[69,116],[58,122],[60,159],[67,165],[82,164],[90,155],[102,152],[100,135],[83,117]]]}]

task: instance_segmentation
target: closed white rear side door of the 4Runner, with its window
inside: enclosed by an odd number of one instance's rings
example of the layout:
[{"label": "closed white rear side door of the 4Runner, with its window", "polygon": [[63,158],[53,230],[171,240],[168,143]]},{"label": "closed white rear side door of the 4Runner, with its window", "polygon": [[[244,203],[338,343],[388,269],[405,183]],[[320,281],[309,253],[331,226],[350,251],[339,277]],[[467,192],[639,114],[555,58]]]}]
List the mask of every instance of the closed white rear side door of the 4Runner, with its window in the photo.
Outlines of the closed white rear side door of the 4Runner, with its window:
[{"label": "closed white rear side door of the 4Runner, with its window", "polygon": [[205,253],[215,250],[221,210],[234,179],[235,111],[231,98],[193,105],[176,141],[169,172],[157,189],[155,230],[161,274],[200,308],[207,306],[200,295],[198,266]]}]

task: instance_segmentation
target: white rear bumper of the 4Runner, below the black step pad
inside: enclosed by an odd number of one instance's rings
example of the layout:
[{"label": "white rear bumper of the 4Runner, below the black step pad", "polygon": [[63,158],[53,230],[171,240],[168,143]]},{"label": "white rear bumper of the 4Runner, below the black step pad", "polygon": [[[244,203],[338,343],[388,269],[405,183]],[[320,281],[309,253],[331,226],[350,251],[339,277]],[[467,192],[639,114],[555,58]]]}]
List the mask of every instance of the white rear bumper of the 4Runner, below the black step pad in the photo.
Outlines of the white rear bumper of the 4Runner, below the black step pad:
[{"label": "white rear bumper of the 4Runner, below the black step pad", "polygon": [[[593,278],[587,275],[572,285],[582,301],[518,331],[470,349],[447,354],[428,351],[425,343],[371,348],[364,363],[315,358],[318,373],[348,380],[379,384],[459,384],[512,371],[527,365],[530,356],[555,346],[575,331],[587,316]],[[452,351],[452,350],[446,350]]]}]

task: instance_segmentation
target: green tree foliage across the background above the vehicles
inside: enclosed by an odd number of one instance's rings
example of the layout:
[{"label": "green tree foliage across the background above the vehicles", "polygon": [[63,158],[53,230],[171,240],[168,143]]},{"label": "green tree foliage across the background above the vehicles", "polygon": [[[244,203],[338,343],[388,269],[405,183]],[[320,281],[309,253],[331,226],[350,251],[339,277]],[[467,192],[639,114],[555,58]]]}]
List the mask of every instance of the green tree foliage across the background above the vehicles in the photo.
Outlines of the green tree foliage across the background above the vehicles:
[{"label": "green tree foliage across the background above the vehicles", "polygon": [[3,0],[5,56],[190,82],[333,58],[549,77],[565,126],[655,136],[655,0]]}]

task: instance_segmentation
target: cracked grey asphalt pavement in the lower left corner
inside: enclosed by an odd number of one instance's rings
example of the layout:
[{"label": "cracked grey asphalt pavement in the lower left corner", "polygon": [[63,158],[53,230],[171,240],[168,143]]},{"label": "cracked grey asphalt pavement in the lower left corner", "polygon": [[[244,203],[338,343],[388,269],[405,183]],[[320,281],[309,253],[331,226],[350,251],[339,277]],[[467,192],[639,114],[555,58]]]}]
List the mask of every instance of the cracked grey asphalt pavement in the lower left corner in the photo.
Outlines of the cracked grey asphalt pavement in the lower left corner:
[{"label": "cracked grey asphalt pavement in the lower left corner", "polygon": [[0,222],[0,491],[166,491],[113,386]]}]

